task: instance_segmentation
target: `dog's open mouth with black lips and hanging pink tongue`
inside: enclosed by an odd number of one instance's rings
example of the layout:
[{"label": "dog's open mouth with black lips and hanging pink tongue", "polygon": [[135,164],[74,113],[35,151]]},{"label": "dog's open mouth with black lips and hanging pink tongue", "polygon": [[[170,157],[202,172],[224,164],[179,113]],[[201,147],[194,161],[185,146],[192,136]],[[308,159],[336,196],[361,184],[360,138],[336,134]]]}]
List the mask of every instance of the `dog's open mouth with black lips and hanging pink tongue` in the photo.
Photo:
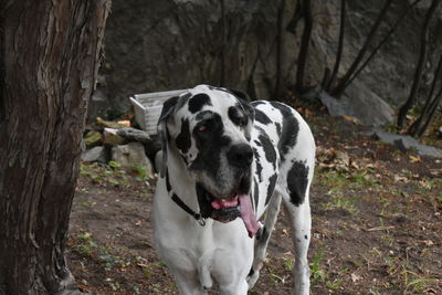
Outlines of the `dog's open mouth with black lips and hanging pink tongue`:
[{"label": "dog's open mouth with black lips and hanging pink tongue", "polygon": [[252,238],[257,232],[260,225],[252,208],[249,189],[245,189],[246,187],[248,186],[240,185],[240,188],[235,190],[231,197],[217,198],[208,192],[201,183],[198,183],[197,193],[201,215],[203,218],[212,218],[223,223],[241,218],[249,236]]}]

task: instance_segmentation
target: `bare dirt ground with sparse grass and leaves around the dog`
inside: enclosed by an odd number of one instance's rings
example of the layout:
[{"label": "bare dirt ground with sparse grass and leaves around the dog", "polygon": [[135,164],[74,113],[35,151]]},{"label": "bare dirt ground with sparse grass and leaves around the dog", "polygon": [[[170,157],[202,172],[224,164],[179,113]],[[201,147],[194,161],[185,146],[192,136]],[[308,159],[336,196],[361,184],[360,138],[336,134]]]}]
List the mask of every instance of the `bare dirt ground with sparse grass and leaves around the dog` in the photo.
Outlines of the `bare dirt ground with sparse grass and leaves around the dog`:
[{"label": "bare dirt ground with sparse grass and leaves around the dog", "polygon": [[[401,152],[348,119],[299,109],[318,152],[311,202],[312,294],[442,294],[442,160]],[[95,294],[177,294],[156,256],[155,180],[82,165],[69,264]],[[293,250],[284,212],[250,294],[290,294]]]}]

